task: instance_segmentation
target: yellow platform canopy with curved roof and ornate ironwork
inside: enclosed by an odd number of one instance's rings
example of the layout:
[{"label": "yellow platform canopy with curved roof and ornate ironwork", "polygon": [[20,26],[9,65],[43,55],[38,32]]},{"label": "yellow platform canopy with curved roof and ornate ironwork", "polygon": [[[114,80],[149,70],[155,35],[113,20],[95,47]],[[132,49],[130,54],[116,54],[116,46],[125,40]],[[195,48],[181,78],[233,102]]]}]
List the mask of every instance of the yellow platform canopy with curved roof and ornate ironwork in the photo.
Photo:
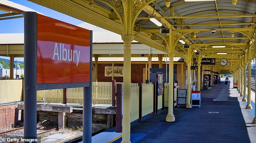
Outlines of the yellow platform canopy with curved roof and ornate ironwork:
[{"label": "yellow platform canopy with curved roof and ornate ironwork", "polygon": [[[30,1],[125,35],[125,11],[129,8],[126,0]],[[195,50],[201,52],[204,58],[216,58],[216,69],[234,71],[246,52],[251,54],[248,58],[254,57],[255,0],[187,1],[189,0],[132,0],[134,40],[163,52],[170,48],[168,40],[173,40],[175,56],[186,59],[187,49],[179,41],[183,39],[186,44],[191,45],[192,58]],[[150,17],[154,17],[162,26],[150,21]],[[172,39],[168,39],[169,34],[159,33],[160,28],[171,29]],[[212,30],[216,32],[213,34]],[[220,52],[227,54],[217,54]],[[226,58],[229,64],[221,66],[219,63],[222,58]]]}]

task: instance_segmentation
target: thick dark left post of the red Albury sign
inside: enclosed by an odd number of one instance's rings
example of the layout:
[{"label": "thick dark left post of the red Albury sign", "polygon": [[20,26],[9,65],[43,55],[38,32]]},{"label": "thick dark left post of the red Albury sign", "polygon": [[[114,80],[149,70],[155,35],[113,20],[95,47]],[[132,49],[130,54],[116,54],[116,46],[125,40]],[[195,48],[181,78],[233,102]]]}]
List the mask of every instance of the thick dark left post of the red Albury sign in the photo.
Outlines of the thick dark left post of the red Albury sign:
[{"label": "thick dark left post of the red Albury sign", "polygon": [[36,139],[37,13],[24,14],[24,137]]}]

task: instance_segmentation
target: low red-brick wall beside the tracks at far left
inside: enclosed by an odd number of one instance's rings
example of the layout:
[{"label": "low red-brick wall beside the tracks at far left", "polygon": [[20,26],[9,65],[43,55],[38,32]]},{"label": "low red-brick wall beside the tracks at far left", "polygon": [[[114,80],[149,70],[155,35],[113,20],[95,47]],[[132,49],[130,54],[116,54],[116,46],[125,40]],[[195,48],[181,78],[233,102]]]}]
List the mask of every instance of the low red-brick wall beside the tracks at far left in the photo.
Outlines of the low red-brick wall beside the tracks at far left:
[{"label": "low red-brick wall beside the tracks at far left", "polygon": [[21,121],[18,104],[0,106],[0,129],[13,128]]}]

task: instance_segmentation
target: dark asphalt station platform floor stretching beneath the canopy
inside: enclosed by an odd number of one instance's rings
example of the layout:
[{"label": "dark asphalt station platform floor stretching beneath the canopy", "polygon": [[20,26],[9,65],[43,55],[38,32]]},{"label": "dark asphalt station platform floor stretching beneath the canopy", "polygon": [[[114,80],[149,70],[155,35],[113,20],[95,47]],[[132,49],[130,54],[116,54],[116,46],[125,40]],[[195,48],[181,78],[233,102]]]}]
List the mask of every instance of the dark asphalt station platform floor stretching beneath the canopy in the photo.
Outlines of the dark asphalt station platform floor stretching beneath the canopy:
[{"label": "dark asphalt station platform floor stretching beneath the canopy", "polygon": [[[142,122],[132,122],[130,141],[132,143],[255,143],[256,124],[252,124],[253,115],[245,109],[246,103],[242,102],[240,93],[231,85],[233,84],[230,83],[228,86],[222,84],[212,86],[212,89],[201,90],[201,108],[188,109],[184,106],[175,108],[175,122],[165,121],[167,108],[157,115],[144,116]],[[92,137],[93,143],[121,141],[122,133],[115,133],[115,128]]]}]

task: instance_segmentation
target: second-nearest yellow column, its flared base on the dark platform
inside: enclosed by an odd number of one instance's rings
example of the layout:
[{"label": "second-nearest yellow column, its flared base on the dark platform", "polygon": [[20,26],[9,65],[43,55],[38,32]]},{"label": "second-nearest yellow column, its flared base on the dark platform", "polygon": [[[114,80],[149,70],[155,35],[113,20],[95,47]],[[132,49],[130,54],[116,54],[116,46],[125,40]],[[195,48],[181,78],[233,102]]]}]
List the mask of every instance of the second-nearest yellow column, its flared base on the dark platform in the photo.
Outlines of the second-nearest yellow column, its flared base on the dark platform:
[{"label": "second-nearest yellow column, its flared base on the dark platform", "polygon": [[173,58],[174,53],[169,53],[169,87],[168,87],[168,115],[166,116],[167,122],[174,122],[175,117],[173,114]]}]

